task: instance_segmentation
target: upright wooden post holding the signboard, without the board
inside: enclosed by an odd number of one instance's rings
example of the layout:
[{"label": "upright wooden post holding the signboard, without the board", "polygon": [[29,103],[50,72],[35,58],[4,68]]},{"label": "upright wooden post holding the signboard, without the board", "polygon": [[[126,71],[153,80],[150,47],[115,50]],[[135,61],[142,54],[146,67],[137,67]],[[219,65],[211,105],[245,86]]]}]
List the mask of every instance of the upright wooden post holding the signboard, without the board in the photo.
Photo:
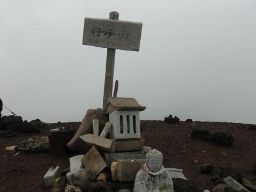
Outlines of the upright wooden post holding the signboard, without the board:
[{"label": "upright wooden post holding the signboard, without the board", "polygon": [[[109,13],[109,19],[118,20],[119,13]],[[114,79],[114,68],[115,68],[115,49],[108,49],[107,61],[106,61],[106,74],[105,74],[105,85],[104,85],[104,96],[103,96],[103,109],[105,108],[108,97],[112,96],[113,90],[113,79]]]}]

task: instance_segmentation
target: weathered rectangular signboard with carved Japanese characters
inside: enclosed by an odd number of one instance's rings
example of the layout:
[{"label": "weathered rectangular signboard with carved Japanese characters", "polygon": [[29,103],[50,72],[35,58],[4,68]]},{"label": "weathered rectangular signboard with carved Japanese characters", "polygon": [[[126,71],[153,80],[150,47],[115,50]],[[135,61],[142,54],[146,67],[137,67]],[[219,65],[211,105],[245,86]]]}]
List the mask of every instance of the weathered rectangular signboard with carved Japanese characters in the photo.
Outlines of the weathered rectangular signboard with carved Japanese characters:
[{"label": "weathered rectangular signboard with carved Japanese characters", "polygon": [[84,19],[83,44],[110,49],[139,51],[141,22]]}]

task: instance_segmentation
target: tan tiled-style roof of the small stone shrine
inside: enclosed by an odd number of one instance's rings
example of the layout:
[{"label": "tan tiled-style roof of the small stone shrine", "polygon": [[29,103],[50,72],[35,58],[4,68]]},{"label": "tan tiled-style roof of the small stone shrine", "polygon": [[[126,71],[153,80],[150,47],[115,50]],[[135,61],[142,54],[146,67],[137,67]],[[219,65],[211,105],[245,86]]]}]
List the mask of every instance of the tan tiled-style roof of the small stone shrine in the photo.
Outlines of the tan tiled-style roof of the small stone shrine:
[{"label": "tan tiled-style roof of the small stone shrine", "polygon": [[144,111],[146,107],[141,106],[134,98],[109,97],[104,112],[106,114],[116,110],[122,111]]}]

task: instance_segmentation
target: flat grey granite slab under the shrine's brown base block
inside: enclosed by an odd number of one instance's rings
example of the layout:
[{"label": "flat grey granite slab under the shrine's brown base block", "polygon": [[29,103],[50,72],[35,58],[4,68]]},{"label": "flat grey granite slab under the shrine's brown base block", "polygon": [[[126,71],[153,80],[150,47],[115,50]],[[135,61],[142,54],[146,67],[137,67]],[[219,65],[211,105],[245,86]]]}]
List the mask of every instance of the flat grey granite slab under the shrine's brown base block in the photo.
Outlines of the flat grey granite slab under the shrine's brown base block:
[{"label": "flat grey granite slab under the shrine's brown base block", "polygon": [[116,153],[104,152],[103,157],[107,165],[110,166],[113,161],[117,161],[118,159],[146,159],[146,153],[143,151]]}]

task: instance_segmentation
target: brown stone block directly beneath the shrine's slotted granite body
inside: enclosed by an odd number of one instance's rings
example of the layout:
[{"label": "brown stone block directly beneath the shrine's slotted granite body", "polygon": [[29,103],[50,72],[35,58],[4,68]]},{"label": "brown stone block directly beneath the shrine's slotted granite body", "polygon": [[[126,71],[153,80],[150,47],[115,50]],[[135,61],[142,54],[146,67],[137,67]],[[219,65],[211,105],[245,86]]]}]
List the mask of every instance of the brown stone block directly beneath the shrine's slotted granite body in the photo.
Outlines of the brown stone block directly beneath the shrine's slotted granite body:
[{"label": "brown stone block directly beneath the shrine's slotted granite body", "polygon": [[115,152],[143,150],[141,139],[114,140]]}]

